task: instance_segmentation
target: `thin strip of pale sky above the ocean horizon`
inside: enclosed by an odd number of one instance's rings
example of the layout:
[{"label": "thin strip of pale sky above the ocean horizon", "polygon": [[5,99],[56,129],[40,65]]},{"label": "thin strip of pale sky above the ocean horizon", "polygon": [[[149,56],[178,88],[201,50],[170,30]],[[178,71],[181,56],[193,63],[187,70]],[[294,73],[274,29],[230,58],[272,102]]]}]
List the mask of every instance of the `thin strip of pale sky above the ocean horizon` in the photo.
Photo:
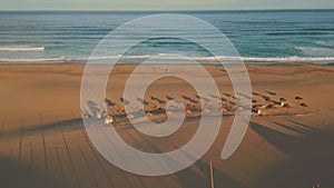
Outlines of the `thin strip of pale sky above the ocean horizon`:
[{"label": "thin strip of pale sky above the ocean horizon", "polygon": [[334,9],[334,0],[0,0],[0,10]]}]

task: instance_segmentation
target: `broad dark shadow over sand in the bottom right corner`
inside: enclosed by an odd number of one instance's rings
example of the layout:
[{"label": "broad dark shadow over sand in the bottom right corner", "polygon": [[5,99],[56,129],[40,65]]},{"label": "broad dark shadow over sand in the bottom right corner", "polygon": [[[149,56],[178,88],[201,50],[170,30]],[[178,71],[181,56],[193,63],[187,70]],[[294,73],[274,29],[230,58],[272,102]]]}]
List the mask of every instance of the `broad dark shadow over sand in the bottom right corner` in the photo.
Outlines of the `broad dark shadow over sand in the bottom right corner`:
[{"label": "broad dark shadow over sand in the bottom right corner", "polygon": [[252,122],[250,129],[289,157],[272,166],[256,180],[257,187],[322,187],[334,186],[334,132],[310,131],[303,137],[293,137],[263,125]]}]

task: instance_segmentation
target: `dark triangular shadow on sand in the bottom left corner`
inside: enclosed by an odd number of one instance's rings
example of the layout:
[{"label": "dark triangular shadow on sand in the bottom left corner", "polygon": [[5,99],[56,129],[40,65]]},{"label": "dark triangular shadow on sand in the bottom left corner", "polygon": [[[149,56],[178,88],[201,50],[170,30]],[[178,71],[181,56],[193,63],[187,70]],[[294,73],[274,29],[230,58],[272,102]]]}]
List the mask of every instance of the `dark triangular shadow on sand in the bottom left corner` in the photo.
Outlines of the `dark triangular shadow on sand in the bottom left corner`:
[{"label": "dark triangular shadow on sand in the bottom left corner", "polygon": [[59,188],[58,180],[51,179],[45,171],[27,167],[19,161],[0,156],[0,187],[1,188]]}]

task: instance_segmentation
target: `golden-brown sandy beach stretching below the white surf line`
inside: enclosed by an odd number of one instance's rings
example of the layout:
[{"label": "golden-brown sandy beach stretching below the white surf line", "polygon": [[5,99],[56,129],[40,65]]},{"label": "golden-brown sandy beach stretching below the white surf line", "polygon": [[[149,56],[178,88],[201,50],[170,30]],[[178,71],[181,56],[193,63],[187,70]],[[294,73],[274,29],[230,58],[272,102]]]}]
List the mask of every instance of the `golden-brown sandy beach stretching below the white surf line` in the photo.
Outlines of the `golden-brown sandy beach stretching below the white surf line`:
[{"label": "golden-brown sandy beach stretching below the white surf line", "polygon": [[[124,83],[134,68],[115,68],[107,89],[107,98],[115,103],[109,112],[119,113],[117,110],[122,108]],[[217,66],[205,68],[219,86],[220,97],[233,102],[226,72]],[[265,105],[265,97],[285,97],[293,105],[288,113],[279,108],[264,109],[266,116],[253,115],[238,150],[222,160],[219,156],[233,121],[233,116],[226,116],[214,146],[199,161],[174,175],[144,177],[112,166],[89,141],[80,117],[84,65],[1,65],[0,187],[204,188],[210,186],[210,159],[216,187],[307,188],[316,182],[333,187],[334,66],[248,65],[247,69],[254,99]],[[195,95],[179,79],[160,79],[146,93],[146,109],[164,107],[167,96],[196,103]],[[310,103],[305,111],[295,96]],[[156,115],[154,120],[164,120],[164,116]],[[120,126],[119,133],[141,150],[167,151],[175,149],[170,146],[187,142],[198,120],[190,115],[176,133],[161,139],[140,135],[129,125]]]}]

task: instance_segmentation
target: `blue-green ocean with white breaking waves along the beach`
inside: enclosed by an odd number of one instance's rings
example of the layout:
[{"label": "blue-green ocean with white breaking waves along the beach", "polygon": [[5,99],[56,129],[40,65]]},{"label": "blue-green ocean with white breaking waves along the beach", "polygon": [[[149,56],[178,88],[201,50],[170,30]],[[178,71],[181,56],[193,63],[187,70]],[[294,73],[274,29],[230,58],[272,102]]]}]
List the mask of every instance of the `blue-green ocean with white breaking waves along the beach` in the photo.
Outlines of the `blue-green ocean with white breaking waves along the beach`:
[{"label": "blue-green ocean with white breaking waves along the beach", "polygon": [[[115,28],[155,13],[167,12],[0,11],[0,63],[87,62],[98,42]],[[334,10],[168,13],[193,16],[215,26],[245,62],[334,62]],[[215,41],[209,36],[207,40]],[[149,51],[141,48],[129,59],[136,62],[137,58],[151,56],[151,48],[156,48],[154,53],[183,51],[210,62],[202,48],[181,39],[156,39],[146,46]]]}]

